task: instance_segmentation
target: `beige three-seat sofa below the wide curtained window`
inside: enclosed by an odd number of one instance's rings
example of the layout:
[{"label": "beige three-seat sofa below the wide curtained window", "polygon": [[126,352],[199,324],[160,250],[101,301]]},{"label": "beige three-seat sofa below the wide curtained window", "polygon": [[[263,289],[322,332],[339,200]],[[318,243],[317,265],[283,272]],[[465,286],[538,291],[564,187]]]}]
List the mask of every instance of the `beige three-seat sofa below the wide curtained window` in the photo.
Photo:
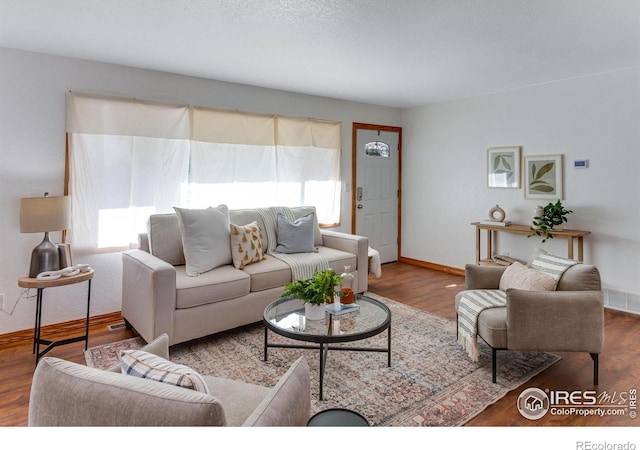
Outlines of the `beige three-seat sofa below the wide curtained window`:
[{"label": "beige three-seat sofa below the wide curtained window", "polygon": [[[291,208],[296,217],[313,207]],[[265,224],[257,209],[230,210],[232,224]],[[268,237],[265,234],[265,248]],[[317,253],[342,273],[349,266],[354,290],[368,286],[366,237],[315,227]],[[176,214],[149,218],[148,233],[139,236],[139,249],[123,253],[122,315],[147,342],[167,333],[170,345],[262,320],[264,308],[292,281],[287,263],[267,258],[236,269],[217,267],[197,277],[186,274],[180,223]]]}]

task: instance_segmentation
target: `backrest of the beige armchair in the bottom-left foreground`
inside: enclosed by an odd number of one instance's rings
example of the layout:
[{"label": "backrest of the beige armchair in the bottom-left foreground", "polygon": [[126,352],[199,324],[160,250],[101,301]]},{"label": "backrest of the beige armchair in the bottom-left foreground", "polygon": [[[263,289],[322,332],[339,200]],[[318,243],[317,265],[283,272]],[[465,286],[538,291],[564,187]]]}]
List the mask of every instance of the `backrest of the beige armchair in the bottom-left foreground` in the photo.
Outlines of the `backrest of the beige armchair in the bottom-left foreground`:
[{"label": "backrest of the beige armchair in the bottom-left foreground", "polygon": [[29,426],[226,425],[212,395],[58,358],[33,374]]}]

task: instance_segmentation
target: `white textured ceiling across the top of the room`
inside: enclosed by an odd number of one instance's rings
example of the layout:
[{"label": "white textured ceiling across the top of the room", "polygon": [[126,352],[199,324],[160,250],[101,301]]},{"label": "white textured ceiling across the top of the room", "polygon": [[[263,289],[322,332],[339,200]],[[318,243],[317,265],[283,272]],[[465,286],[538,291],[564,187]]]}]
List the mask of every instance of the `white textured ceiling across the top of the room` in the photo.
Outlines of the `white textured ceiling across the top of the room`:
[{"label": "white textured ceiling across the top of the room", "polygon": [[640,66],[640,0],[0,0],[0,46],[412,107]]}]

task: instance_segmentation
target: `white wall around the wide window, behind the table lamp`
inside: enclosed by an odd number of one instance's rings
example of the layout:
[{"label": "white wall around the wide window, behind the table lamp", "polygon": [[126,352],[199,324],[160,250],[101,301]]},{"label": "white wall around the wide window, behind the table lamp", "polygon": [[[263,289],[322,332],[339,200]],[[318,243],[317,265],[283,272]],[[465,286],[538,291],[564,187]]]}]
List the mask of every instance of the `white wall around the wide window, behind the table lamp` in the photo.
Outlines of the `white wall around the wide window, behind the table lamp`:
[{"label": "white wall around the wide window, behind the table lamp", "polygon": [[[400,111],[359,103],[223,83],[129,67],[0,48],[0,334],[33,327],[34,300],[21,296],[40,234],[21,234],[20,198],[63,193],[65,92],[95,92],[251,112],[343,122],[343,180],[351,178],[352,122],[400,125]],[[343,192],[342,225],[350,230],[350,193]],[[60,234],[54,233],[55,241]],[[74,259],[96,269],[91,314],[120,310],[119,254]],[[31,292],[30,294],[34,294]],[[43,324],[84,317],[86,284],[44,291]],[[8,312],[12,312],[8,314]]]}]

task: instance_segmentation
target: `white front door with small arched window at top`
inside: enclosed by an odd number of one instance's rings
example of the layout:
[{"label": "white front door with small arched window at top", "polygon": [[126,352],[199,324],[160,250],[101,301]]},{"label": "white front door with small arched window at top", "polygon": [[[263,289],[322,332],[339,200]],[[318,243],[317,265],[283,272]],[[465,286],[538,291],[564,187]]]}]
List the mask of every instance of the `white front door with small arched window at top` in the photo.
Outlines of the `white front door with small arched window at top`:
[{"label": "white front door with small arched window at top", "polygon": [[400,129],[354,124],[355,233],[369,238],[380,262],[398,260]]}]

